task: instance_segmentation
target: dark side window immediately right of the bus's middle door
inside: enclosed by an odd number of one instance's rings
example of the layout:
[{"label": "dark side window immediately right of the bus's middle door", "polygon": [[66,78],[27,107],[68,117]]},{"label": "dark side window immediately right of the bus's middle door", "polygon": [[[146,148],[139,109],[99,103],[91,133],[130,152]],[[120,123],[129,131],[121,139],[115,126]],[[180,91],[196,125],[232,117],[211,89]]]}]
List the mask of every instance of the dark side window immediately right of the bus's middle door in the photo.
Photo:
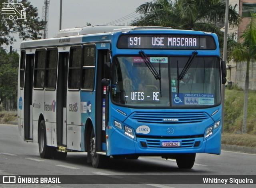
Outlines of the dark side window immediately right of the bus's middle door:
[{"label": "dark side window immediately right of the bus's middle door", "polygon": [[81,60],[81,46],[71,47],[68,65],[68,89],[80,89]]}]

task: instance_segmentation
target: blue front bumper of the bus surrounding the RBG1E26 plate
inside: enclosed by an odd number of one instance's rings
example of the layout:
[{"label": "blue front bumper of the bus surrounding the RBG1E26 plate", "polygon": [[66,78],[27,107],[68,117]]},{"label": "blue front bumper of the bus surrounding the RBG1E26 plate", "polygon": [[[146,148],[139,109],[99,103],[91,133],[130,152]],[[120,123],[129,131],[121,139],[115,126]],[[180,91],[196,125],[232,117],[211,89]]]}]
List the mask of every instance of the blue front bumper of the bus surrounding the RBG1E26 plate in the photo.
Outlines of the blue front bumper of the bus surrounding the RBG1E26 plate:
[{"label": "blue front bumper of the bus surrounding the RBG1E26 plate", "polygon": [[[109,155],[138,154],[139,156],[164,156],[165,154],[210,153],[220,154],[221,131],[204,139],[152,139],[129,138],[119,131],[114,131],[108,141]],[[115,143],[116,142],[116,143]],[[172,142],[179,146],[164,146]]]}]

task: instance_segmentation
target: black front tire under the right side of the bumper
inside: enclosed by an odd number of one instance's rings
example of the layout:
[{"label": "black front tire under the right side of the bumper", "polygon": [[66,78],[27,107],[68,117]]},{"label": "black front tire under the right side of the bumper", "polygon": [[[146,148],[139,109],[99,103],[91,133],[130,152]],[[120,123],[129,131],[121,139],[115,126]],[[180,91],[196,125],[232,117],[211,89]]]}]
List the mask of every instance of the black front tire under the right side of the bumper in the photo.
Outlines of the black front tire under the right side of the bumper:
[{"label": "black front tire under the right side of the bumper", "polygon": [[185,168],[189,169],[194,166],[194,162],[196,159],[196,154],[191,153],[191,154],[179,154],[176,157],[176,163],[179,168]]}]

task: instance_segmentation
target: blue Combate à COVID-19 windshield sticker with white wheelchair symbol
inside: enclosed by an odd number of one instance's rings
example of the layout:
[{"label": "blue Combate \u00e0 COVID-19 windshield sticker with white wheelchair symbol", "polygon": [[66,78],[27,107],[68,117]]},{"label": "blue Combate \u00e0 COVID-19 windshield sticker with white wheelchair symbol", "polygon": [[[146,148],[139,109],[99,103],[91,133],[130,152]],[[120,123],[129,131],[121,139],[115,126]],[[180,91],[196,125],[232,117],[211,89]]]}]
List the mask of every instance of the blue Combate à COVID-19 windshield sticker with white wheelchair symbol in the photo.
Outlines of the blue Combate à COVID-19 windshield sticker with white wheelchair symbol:
[{"label": "blue Combate \u00e0 COVID-19 windshield sticker with white wheelchair symbol", "polygon": [[208,93],[173,93],[174,105],[214,105],[214,95]]}]

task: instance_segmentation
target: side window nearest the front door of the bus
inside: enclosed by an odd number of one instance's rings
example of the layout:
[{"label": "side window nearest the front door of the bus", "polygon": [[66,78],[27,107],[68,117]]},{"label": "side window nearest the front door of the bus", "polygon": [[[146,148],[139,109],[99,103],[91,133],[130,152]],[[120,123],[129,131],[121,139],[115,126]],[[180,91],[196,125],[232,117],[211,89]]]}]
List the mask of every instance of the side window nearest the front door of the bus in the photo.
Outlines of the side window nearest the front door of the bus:
[{"label": "side window nearest the front door of the bus", "polygon": [[82,67],[82,89],[93,90],[96,47],[95,45],[84,45],[83,47],[83,67]]}]

